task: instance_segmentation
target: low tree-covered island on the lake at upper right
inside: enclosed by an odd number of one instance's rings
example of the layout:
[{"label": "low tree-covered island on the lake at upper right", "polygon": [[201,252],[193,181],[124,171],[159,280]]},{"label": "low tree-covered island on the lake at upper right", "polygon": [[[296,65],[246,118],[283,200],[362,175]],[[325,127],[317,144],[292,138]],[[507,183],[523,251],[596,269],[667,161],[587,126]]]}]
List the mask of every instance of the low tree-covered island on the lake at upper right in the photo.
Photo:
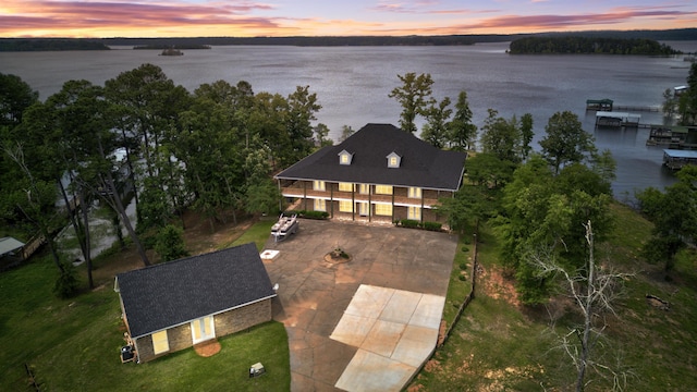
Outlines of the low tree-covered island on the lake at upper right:
[{"label": "low tree-covered island on the lake at upper right", "polygon": [[511,42],[512,54],[596,53],[672,56],[681,52],[647,38],[603,38],[584,36],[534,36]]}]

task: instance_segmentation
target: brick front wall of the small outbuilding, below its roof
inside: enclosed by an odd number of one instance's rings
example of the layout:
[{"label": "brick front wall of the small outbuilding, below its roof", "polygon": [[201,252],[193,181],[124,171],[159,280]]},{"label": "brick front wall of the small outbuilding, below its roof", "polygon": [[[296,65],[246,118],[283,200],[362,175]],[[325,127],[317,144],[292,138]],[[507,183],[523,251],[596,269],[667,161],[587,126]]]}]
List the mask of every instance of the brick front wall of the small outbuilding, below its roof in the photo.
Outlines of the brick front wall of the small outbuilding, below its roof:
[{"label": "brick front wall of the small outbuilding, below its roof", "polygon": [[[256,324],[270,321],[271,318],[271,298],[225,311],[213,317],[216,336],[220,338],[235,333]],[[170,344],[170,351],[158,355],[155,355],[152,338],[150,335],[137,339],[136,346],[138,350],[139,362],[144,363],[152,360],[163,355],[193,346],[194,341],[191,323],[186,322],[179,327],[168,329],[167,339]]]}]

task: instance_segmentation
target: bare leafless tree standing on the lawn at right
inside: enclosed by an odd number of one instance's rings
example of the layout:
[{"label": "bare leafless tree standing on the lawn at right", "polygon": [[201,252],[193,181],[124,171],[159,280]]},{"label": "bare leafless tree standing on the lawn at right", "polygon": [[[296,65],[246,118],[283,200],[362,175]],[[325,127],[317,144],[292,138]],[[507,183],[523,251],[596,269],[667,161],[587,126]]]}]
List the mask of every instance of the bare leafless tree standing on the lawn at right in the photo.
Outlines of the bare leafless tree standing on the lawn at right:
[{"label": "bare leafless tree standing on the lawn at right", "polygon": [[[634,273],[621,273],[610,268],[597,268],[590,221],[584,224],[584,228],[588,245],[588,261],[585,270],[568,272],[557,262],[553,249],[530,253],[529,261],[541,275],[562,277],[562,281],[568,286],[571,298],[583,316],[583,324],[571,328],[568,333],[559,336],[560,348],[566,353],[577,370],[576,391],[583,391],[587,384],[585,379],[588,368],[592,368],[603,377],[611,378],[614,391],[623,391],[626,389],[628,378],[634,376],[632,371],[624,369],[622,360],[614,365],[603,363],[601,356],[594,355],[594,348],[597,347],[607,327],[603,315],[616,316],[613,303],[617,298],[617,282],[634,275]],[[552,330],[554,329],[552,328]]]}]

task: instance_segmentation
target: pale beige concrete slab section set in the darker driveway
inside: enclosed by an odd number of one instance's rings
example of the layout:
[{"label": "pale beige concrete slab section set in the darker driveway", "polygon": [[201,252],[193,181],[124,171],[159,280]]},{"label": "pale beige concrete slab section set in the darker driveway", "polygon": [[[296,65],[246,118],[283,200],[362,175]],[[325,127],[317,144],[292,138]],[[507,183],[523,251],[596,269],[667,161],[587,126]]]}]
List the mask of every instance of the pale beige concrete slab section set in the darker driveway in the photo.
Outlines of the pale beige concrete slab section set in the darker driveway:
[{"label": "pale beige concrete slab section set in the darker driveway", "polygon": [[[438,295],[362,284],[330,336],[359,348],[335,387],[346,391],[402,390],[404,375],[408,380],[438,343],[444,304],[445,297]],[[353,377],[355,373],[362,376]],[[377,381],[379,384],[374,383]]]}]

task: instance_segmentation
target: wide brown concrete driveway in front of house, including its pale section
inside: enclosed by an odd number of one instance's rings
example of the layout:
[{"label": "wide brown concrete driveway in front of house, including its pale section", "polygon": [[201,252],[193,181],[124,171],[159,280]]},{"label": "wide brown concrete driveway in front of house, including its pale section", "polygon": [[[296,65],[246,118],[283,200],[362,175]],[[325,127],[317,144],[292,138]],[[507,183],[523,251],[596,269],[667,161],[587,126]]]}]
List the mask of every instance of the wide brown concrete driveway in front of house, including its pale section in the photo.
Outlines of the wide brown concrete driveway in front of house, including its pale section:
[{"label": "wide brown concrete driveway in front of house, including its pale section", "polygon": [[[325,259],[325,255],[337,246],[351,256],[348,262],[333,264]],[[456,236],[444,233],[315,220],[301,220],[298,232],[281,243],[270,238],[266,249],[279,253],[272,259],[265,259],[264,264],[271,282],[279,284],[273,318],[285,324],[289,334],[291,389],[370,389],[365,383],[367,375],[362,373],[365,367],[354,365],[370,366],[375,364],[372,354],[382,355],[386,350],[392,350],[396,359],[400,356],[408,357],[407,367],[414,369],[413,355],[405,355],[402,348],[396,348],[398,345],[403,347],[399,340],[402,336],[424,335],[428,338],[427,345],[430,348],[435,346],[435,342],[430,343],[431,335],[415,334],[412,328],[425,324],[424,315],[430,316],[429,324],[432,324],[435,317],[440,320],[444,299],[437,297],[444,297],[448,291],[456,247]],[[352,304],[359,289],[357,303]],[[370,299],[375,298],[375,294],[365,297],[366,293],[377,293],[376,290],[382,299]],[[392,304],[406,303],[412,306],[390,305],[392,296]],[[417,311],[421,298],[424,304],[440,304],[440,308],[438,305],[423,305],[420,313]],[[382,302],[382,307],[365,306],[371,302]],[[390,310],[386,311],[386,307]],[[357,309],[365,309],[360,310],[365,314],[358,314]],[[412,326],[408,321],[411,316],[394,314],[394,309],[411,309],[407,311],[414,313],[417,324]],[[435,316],[433,310],[437,310]],[[347,324],[342,322],[338,329],[345,313],[347,321],[357,322],[357,316],[359,321],[374,322],[380,328],[368,328],[363,338],[346,338]],[[383,315],[380,316],[380,313]],[[401,327],[393,324],[395,321],[402,322]],[[356,328],[366,329],[365,324],[362,326]],[[389,333],[380,334],[383,331]],[[367,346],[371,342],[375,345]],[[392,348],[389,344],[392,344]],[[416,345],[423,351],[424,341]],[[398,355],[398,352],[401,354]],[[384,358],[379,357],[381,362]],[[393,359],[389,360],[392,364]],[[402,363],[390,364],[371,376],[370,385],[398,391],[403,387],[406,381],[404,372],[409,370],[404,370]],[[401,373],[395,373],[394,369],[401,369]],[[341,383],[338,384],[340,379]],[[364,383],[359,382],[362,380]],[[399,383],[396,389],[392,387],[394,382]]]}]

